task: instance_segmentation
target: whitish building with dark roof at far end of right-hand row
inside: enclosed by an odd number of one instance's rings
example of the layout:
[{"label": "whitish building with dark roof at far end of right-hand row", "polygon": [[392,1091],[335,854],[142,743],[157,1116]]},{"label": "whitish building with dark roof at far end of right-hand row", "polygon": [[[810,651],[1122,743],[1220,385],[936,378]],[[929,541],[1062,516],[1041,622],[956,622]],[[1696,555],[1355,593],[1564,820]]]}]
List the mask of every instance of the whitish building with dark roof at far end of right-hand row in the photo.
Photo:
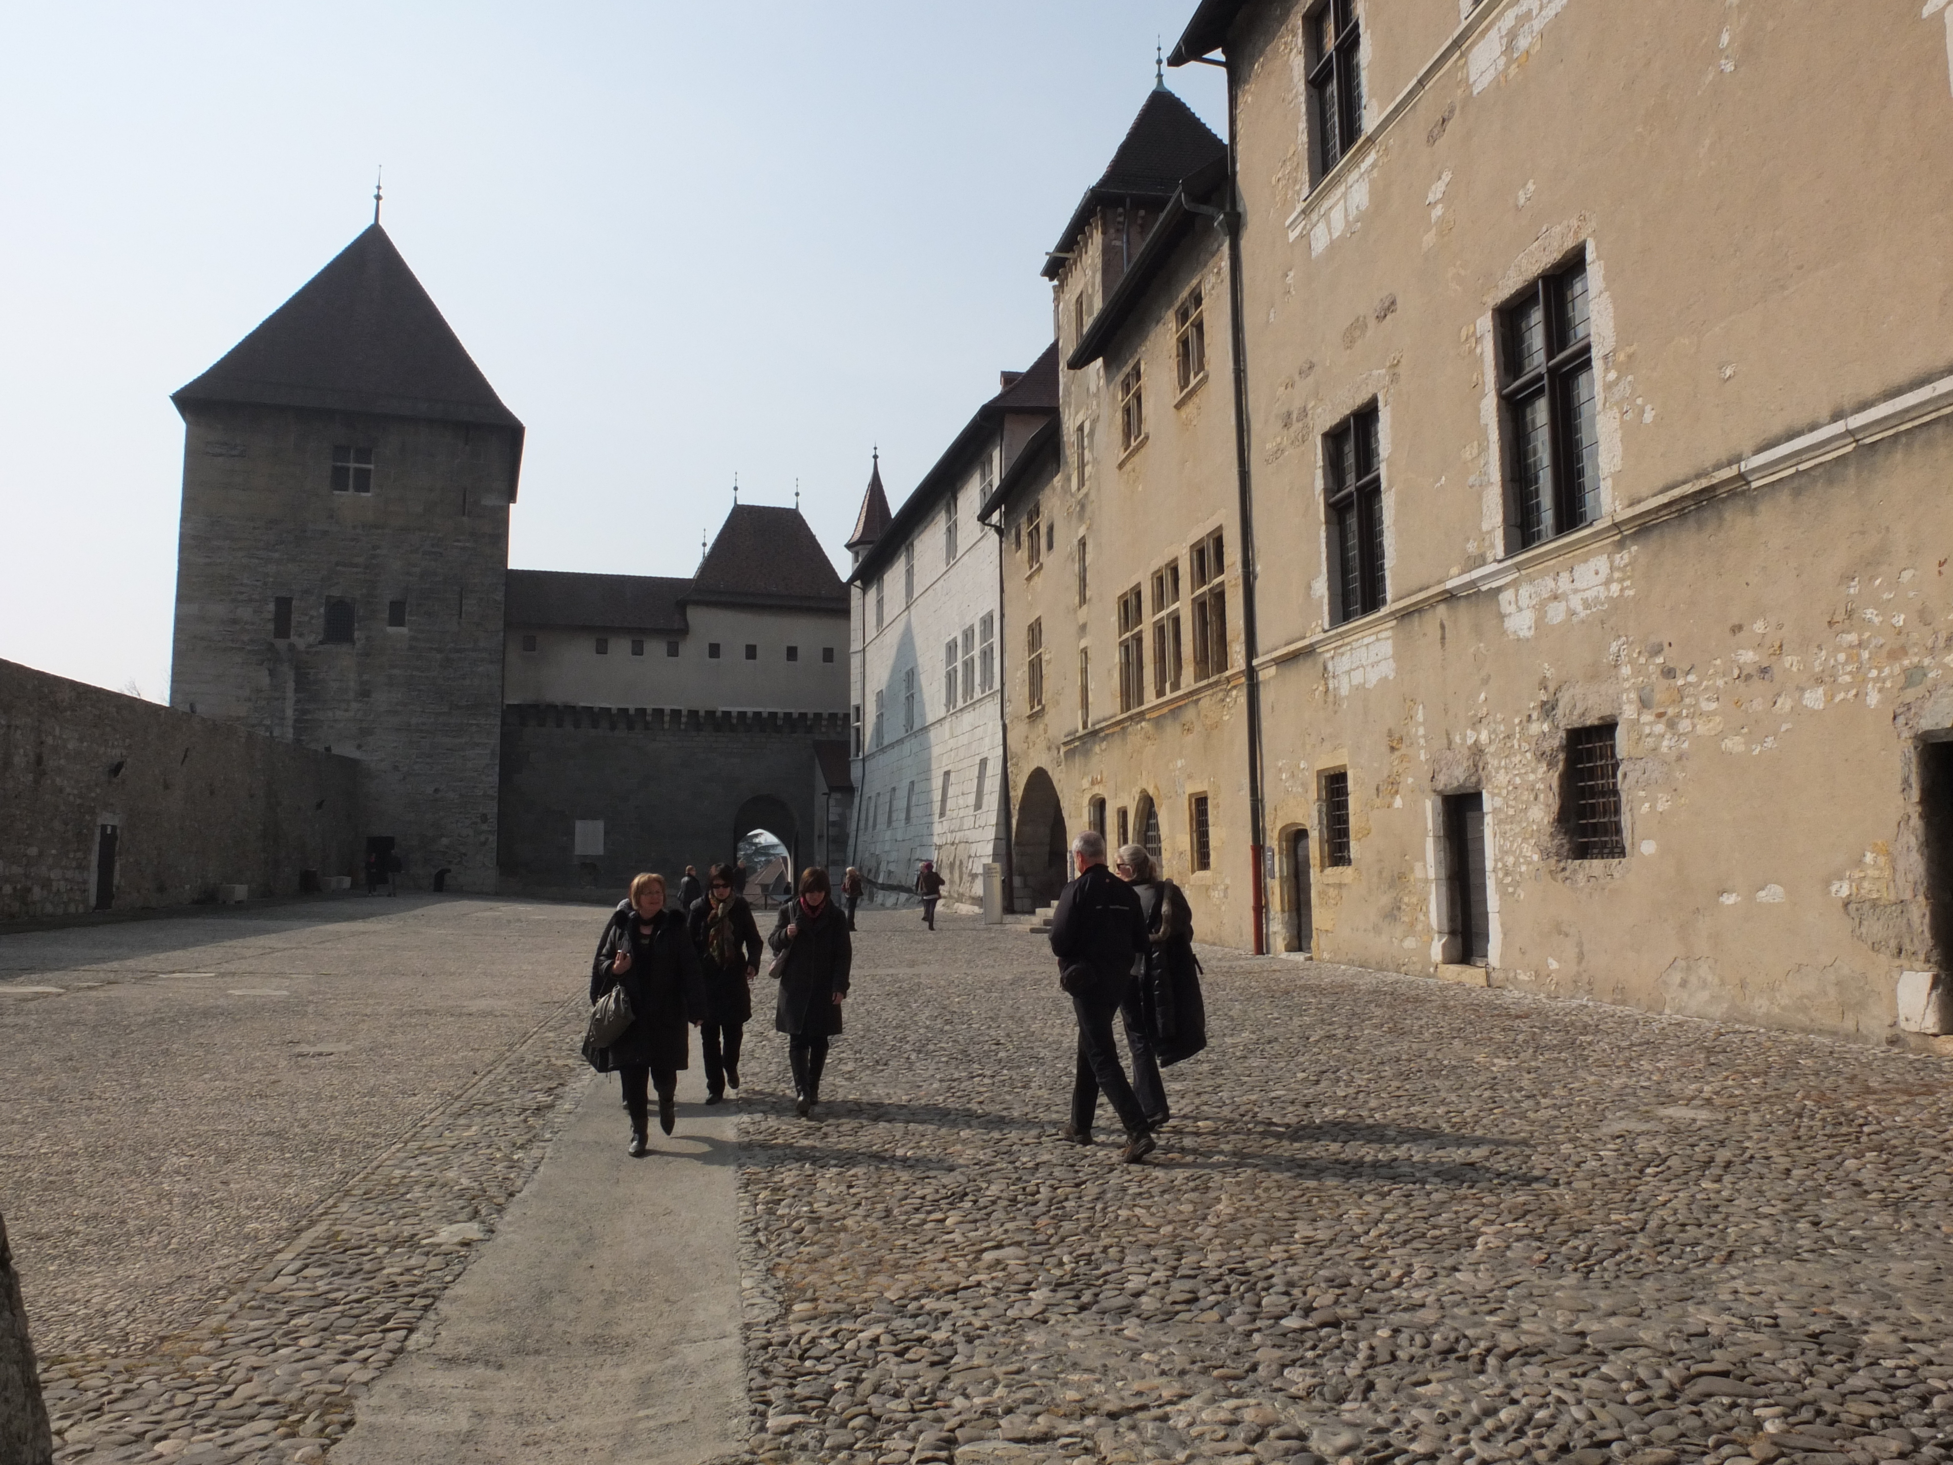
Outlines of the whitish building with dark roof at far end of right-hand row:
[{"label": "whitish building with dark roof at far end of right-hand row", "polygon": [[891,516],[881,463],[848,549],[853,594],[853,858],[875,891],[914,887],[920,861],[945,899],[982,902],[1004,859],[998,545],[978,506],[1059,406],[1057,348],[963,426]]}]

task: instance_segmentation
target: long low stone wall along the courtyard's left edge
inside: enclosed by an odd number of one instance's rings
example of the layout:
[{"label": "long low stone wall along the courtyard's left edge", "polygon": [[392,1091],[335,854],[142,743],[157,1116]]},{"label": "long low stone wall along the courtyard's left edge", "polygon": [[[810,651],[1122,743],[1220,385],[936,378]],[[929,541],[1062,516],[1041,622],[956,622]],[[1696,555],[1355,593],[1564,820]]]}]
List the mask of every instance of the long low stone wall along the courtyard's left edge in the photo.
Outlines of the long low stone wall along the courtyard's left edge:
[{"label": "long low stone wall along the courtyard's left edge", "polygon": [[359,764],[0,660],[0,920],[359,875]]}]

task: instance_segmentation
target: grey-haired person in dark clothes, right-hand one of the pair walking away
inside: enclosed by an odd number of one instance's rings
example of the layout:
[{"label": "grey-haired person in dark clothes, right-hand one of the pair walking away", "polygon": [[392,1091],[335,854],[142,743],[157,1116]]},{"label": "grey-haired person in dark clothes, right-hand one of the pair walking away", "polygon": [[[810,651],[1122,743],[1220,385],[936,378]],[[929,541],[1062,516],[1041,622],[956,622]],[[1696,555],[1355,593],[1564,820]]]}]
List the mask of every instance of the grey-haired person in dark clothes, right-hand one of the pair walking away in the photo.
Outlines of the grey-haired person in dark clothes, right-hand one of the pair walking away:
[{"label": "grey-haired person in dark clothes, right-hand one of the pair walking away", "polygon": [[1119,1016],[1133,1051],[1133,1092],[1158,1129],[1172,1117],[1160,1068],[1191,1059],[1207,1047],[1207,1008],[1201,1000],[1201,963],[1193,955],[1193,908],[1185,893],[1160,873],[1144,846],[1119,850],[1119,877],[1146,916],[1146,949],[1133,965],[1133,986]]}]

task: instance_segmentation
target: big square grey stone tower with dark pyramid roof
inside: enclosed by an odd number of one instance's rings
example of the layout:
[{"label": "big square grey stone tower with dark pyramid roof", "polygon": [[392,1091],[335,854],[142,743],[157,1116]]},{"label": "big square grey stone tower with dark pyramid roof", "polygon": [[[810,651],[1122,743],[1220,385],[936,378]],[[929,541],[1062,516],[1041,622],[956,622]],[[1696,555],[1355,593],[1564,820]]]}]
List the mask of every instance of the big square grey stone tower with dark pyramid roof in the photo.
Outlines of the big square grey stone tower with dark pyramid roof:
[{"label": "big square grey stone tower with dark pyramid roof", "polygon": [[404,883],[492,891],[521,422],[377,223],[172,400],[170,703],[359,758]]}]

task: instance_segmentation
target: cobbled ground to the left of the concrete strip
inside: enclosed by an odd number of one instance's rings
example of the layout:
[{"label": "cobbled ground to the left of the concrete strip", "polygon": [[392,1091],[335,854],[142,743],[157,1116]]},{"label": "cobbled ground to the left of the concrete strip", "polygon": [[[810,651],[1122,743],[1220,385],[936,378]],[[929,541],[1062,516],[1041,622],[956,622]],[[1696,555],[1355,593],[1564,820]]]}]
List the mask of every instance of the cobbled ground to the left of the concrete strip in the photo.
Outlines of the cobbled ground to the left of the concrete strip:
[{"label": "cobbled ground to the left of the concrete strip", "polygon": [[59,1459],[318,1459],[588,1072],[602,920],[359,899],[0,938],[0,1209]]}]

